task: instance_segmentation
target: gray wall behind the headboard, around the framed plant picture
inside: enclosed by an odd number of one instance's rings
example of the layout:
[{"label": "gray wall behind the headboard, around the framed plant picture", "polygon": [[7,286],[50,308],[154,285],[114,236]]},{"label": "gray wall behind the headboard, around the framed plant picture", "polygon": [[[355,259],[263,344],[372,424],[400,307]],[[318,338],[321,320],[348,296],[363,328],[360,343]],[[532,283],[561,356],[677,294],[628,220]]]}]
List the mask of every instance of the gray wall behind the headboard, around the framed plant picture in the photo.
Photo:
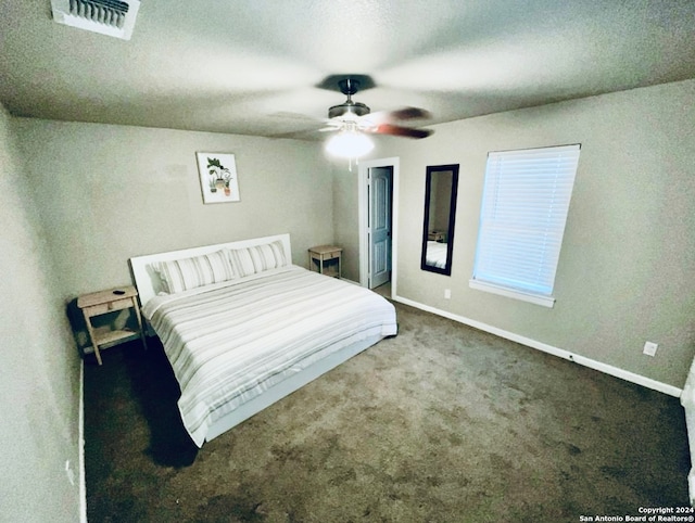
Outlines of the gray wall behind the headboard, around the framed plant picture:
[{"label": "gray wall behind the headboard, around the framed plant picture", "polygon": [[[130,281],[127,260],[289,232],[293,262],[333,241],[316,143],[15,118],[65,298]],[[241,201],[204,205],[195,152],[233,153]]]}]

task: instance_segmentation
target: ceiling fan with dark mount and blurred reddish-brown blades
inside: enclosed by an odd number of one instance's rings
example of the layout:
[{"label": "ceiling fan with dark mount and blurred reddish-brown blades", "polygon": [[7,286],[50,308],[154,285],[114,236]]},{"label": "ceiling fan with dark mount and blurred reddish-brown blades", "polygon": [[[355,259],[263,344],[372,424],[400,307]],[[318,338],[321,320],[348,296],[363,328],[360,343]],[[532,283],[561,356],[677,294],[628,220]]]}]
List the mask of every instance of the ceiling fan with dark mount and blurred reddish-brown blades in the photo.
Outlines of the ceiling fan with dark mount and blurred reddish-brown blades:
[{"label": "ceiling fan with dark mount and blurred reddish-brown blades", "polygon": [[321,129],[323,131],[337,130],[343,133],[390,135],[414,139],[427,138],[433,132],[430,129],[416,129],[392,123],[429,118],[430,113],[422,109],[404,107],[391,113],[371,113],[367,105],[362,102],[355,102],[352,99],[359,90],[359,79],[353,77],[342,78],[338,81],[338,87],[348,97],[348,100],[328,110],[329,119],[326,127]]}]

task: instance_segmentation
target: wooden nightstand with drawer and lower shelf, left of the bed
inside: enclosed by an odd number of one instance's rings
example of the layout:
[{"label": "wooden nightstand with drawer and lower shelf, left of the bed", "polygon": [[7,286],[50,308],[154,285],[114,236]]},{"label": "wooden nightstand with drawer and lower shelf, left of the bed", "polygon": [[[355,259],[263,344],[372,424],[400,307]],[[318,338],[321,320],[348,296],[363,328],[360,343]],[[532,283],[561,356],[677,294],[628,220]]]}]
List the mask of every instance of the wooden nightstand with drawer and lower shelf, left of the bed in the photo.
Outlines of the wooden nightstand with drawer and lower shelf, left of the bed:
[{"label": "wooden nightstand with drawer and lower shelf, left of the bed", "polygon": [[[101,365],[100,346],[106,348],[106,346],[110,347],[139,336],[142,340],[142,346],[147,348],[137,296],[138,291],[136,291],[135,286],[126,285],[85,294],[77,298],[77,307],[80,308],[85,315],[89,339],[92,347],[94,347],[94,355],[97,356],[99,365]],[[92,317],[127,308],[135,309],[135,316],[138,320],[137,330],[112,329],[110,326],[94,328],[92,326]]]}]

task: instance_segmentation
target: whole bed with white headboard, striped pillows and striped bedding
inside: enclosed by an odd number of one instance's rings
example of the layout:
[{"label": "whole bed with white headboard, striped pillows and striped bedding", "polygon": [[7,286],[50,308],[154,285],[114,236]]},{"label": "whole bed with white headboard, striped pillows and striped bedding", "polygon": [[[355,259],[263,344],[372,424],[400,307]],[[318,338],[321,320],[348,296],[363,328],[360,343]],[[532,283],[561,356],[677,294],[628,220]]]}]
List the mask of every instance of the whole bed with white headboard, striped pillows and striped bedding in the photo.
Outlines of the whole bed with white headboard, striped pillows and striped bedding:
[{"label": "whole bed with white headboard, striped pillows and striped bedding", "polygon": [[291,264],[289,234],[130,258],[199,447],[396,334],[376,293]]}]

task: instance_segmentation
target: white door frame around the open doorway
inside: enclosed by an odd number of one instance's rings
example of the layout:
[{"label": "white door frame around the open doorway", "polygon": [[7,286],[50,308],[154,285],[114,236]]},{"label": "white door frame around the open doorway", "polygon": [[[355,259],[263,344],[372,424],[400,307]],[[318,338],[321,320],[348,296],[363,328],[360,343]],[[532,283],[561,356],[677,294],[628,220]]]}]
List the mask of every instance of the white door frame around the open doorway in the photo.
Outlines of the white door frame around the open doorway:
[{"label": "white door frame around the open doorway", "polygon": [[393,179],[391,180],[391,295],[396,294],[397,283],[397,241],[399,238],[399,170],[400,158],[377,158],[359,162],[358,183],[357,183],[357,201],[358,201],[358,221],[359,221],[359,284],[369,286],[369,169],[372,167],[392,167]]}]

